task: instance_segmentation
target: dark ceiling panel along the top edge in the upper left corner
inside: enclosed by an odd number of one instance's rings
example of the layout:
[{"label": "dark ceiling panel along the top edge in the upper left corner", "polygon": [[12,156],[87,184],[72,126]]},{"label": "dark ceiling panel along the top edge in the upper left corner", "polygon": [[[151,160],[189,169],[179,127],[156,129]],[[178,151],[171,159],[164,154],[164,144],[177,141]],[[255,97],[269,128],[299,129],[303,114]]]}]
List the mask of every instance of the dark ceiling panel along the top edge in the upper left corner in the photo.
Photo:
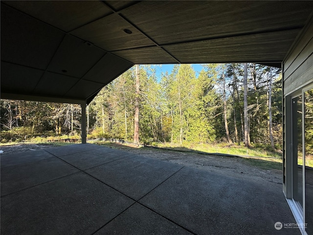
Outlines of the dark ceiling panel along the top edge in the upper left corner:
[{"label": "dark ceiling panel along the top edge in the upper left corner", "polygon": [[112,11],[101,1],[23,0],[4,2],[66,32],[112,14]]}]

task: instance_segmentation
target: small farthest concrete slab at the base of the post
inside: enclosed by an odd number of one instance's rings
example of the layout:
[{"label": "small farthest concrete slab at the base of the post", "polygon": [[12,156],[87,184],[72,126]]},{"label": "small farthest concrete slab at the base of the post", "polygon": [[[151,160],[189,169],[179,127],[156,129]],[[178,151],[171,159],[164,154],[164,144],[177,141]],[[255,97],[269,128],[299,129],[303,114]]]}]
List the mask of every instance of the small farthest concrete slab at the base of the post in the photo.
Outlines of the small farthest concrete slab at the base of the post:
[{"label": "small farthest concrete slab at the base of the post", "polygon": [[60,156],[68,155],[68,154],[83,153],[83,152],[94,150],[97,148],[104,148],[104,147],[100,145],[90,144],[90,143],[85,143],[85,144],[78,143],[78,144],[64,145],[64,146],[55,147],[55,148],[47,148],[45,150],[53,154],[54,156],[60,157]]}]

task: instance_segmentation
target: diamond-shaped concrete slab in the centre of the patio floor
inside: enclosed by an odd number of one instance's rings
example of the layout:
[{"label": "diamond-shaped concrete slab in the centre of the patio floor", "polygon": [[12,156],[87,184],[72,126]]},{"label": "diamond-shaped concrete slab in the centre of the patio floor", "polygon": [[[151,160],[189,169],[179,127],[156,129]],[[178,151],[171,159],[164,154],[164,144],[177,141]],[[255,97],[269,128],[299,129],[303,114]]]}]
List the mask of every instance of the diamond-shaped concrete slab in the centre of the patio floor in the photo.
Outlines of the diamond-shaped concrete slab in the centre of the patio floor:
[{"label": "diamond-shaped concrete slab in the centre of the patio floor", "polygon": [[86,170],[93,177],[139,200],[175,174],[182,166],[133,155]]}]

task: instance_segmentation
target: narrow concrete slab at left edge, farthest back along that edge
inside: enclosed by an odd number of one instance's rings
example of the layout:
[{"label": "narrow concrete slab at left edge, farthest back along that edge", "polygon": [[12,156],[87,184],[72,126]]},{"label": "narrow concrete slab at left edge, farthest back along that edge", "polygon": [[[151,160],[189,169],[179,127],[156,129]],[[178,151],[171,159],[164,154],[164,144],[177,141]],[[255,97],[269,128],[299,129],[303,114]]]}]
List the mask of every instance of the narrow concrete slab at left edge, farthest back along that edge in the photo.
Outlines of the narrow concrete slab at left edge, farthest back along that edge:
[{"label": "narrow concrete slab at left edge, farthest back along that edge", "polygon": [[39,150],[30,150],[25,152],[19,153],[12,153],[8,155],[1,155],[0,163],[1,168],[12,166],[12,165],[19,165],[25,163],[36,162],[44,159],[54,158],[54,156],[50,153],[47,153],[43,149]]}]

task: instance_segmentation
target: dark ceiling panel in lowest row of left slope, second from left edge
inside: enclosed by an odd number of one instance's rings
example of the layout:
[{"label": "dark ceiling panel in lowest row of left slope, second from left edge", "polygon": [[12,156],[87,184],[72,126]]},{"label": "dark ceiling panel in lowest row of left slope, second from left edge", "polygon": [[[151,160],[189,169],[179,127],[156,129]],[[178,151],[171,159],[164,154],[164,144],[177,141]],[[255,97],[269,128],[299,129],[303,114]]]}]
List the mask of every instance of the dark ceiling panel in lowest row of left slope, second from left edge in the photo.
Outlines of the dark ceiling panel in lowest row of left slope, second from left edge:
[{"label": "dark ceiling panel in lowest row of left slope, second from left edge", "polygon": [[[69,77],[53,72],[45,72],[40,79],[34,94],[63,96],[67,91],[79,81],[78,78]],[[47,84],[49,84],[47,86]],[[60,86],[62,84],[62,86]],[[81,97],[82,98],[82,97]]]}]

